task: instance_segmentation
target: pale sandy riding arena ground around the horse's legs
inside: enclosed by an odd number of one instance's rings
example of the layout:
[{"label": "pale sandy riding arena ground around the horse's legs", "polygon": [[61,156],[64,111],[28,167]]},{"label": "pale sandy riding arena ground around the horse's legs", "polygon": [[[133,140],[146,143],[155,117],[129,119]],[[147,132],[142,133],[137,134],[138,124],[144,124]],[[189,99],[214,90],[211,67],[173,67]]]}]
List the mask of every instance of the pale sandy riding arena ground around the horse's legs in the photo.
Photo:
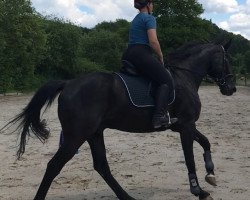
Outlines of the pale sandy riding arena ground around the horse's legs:
[{"label": "pale sandy riding arena ground around the horse's legs", "polygon": [[[218,186],[205,183],[203,151],[195,143],[200,185],[215,200],[250,199],[250,88],[239,87],[231,97],[217,87],[203,86],[203,104],[197,122],[212,145]],[[21,111],[31,95],[0,97],[0,127]],[[16,133],[0,134],[0,199],[31,200],[41,182],[46,165],[58,148],[60,124],[56,103],[43,116],[51,137],[46,144],[31,138],[26,153],[16,161]],[[150,134],[106,130],[105,141],[110,168],[125,190],[138,200],[191,200],[187,170],[179,134],[171,131]],[[54,180],[48,200],[115,200],[114,193],[93,170],[87,144],[67,163]]]}]

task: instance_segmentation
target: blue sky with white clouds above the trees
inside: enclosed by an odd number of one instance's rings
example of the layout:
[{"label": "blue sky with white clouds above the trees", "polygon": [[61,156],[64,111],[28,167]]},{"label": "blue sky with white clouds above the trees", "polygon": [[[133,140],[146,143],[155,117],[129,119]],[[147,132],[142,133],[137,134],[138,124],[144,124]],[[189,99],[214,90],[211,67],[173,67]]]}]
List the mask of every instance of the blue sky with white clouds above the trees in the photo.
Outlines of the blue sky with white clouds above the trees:
[{"label": "blue sky with white clouds above the trees", "polygon": [[[82,27],[92,28],[103,21],[126,19],[137,14],[133,0],[31,0],[42,15],[68,19]],[[241,34],[250,40],[250,0],[198,0],[205,12],[202,18],[220,28]]]}]

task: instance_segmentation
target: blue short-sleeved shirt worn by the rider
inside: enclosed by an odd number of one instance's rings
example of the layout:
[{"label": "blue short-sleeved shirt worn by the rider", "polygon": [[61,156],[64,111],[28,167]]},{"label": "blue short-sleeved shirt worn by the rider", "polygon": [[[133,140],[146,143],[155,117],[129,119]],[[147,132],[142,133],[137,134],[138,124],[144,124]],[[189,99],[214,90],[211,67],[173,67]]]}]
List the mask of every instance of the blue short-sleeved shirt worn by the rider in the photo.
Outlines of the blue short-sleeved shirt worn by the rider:
[{"label": "blue short-sleeved shirt worn by the rider", "polygon": [[143,12],[136,15],[129,30],[129,44],[149,45],[149,29],[156,29],[155,17]]}]

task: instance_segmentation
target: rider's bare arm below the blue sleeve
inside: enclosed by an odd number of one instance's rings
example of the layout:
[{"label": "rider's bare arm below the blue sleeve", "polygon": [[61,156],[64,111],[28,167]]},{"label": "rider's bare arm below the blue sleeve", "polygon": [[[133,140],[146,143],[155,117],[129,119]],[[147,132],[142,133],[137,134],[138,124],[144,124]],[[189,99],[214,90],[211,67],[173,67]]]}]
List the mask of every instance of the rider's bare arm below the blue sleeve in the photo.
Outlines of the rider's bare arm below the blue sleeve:
[{"label": "rider's bare arm below the blue sleeve", "polygon": [[149,45],[152,47],[152,49],[155,51],[155,53],[158,55],[161,63],[163,64],[163,54],[161,51],[161,45],[157,38],[156,29],[149,29],[148,30],[148,39],[149,39]]}]

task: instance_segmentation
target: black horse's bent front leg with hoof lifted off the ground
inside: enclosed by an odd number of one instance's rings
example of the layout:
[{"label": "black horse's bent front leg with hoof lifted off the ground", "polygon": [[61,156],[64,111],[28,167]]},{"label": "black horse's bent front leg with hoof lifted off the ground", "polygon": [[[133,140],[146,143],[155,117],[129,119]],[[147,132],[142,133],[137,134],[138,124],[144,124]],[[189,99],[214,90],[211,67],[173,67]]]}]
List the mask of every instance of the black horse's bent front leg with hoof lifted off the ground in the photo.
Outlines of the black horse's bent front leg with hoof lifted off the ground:
[{"label": "black horse's bent front leg with hoof lifted off the ground", "polygon": [[197,129],[195,129],[195,132],[194,132],[194,139],[204,149],[203,157],[204,157],[205,167],[206,167],[206,171],[207,171],[207,175],[205,177],[205,180],[209,184],[211,184],[213,186],[217,186],[216,179],[215,179],[215,174],[214,174],[214,163],[212,161],[211,150],[210,150],[210,146],[211,146],[210,142],[207,139],[207,137],[205,137]]}]

